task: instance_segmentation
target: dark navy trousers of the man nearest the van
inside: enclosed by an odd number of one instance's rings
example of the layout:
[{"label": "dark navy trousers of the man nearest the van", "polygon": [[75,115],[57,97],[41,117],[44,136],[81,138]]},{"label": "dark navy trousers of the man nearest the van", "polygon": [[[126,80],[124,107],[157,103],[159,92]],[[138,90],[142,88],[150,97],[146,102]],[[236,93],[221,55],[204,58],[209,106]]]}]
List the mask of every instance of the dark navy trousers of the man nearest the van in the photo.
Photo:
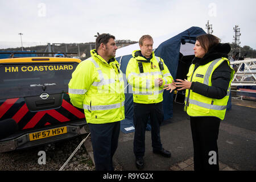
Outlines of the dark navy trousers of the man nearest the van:
[{"label": "dark navy trousers of the man nearest the van", "polygon": [[96,171],[113,171],[112,158],[118,146],[120,121],[88,125]]}]

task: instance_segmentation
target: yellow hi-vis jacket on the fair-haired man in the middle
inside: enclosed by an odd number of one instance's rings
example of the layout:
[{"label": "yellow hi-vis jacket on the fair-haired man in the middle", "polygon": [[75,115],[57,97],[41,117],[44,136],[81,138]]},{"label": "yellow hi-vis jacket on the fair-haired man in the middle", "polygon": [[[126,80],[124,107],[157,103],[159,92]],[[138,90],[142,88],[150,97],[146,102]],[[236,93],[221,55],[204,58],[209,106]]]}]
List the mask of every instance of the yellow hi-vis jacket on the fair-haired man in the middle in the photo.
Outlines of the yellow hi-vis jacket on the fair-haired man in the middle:
[{"label": "yellow hi-vis jacket on the fair-haired man in the middle", "polygon": [[[173,80],[166,64],[163,63],[164,70],[159,68],[159,61],[163,59],[155,56],[152,52],[150,63],[142,56],[135,56],[130,59],[126,68],[126,77],[129,84],[133,87],[133,101],[141,104],[154,104],[163,101],[163,88],[165,84],[170,84]],[[143,65],[143,73],[139,70],[139,62]],[[162,78],[162,86],[155,86],[155,78]]]}]

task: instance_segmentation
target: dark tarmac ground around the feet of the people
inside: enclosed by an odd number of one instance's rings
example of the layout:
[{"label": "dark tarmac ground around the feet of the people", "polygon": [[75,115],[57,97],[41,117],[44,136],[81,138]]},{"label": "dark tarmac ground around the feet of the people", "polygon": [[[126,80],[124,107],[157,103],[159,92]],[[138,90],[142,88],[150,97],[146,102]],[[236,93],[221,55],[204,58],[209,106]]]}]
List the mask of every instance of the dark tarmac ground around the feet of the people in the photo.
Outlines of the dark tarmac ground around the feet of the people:
[{"label": "dark tarmac ground around the feet of the people", "polygon": [[[189,117],[183,105],[174,104],[174,116],[160,127],[163,148],[171,158],[152,152],[151,131],[146,131],[144,171],[193,171],[193,142]],[[114,161],[124,171],[137,171],[133,153],[134,133],[119,135]],[[232,99],[218,134],[220,170],[256,170],[256,102]]]}]

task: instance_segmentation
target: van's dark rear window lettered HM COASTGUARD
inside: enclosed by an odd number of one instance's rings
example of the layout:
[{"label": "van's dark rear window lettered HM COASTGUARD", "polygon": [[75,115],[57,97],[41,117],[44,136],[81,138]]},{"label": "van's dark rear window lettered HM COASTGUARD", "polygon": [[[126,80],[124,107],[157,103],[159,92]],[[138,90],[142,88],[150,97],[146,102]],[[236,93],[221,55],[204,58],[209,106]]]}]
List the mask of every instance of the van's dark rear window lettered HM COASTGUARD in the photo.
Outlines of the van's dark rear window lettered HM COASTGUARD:
[{"label": "van's dark rear window lettered HM COASTGUARD", "polygon": [[68,92],[78,63],[0,65],[0,99]]}]

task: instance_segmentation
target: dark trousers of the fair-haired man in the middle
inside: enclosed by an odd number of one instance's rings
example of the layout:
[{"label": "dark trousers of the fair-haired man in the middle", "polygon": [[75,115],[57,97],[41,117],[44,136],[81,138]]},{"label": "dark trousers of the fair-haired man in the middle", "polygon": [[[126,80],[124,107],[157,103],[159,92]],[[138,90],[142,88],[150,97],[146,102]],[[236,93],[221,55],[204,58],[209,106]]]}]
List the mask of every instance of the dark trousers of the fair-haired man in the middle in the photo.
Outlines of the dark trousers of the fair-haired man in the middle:
[{"label": "dark trousers of the fair-haired man in the middle", "polygon": [[162,150],[160,140],[160,124],[163,122],[163,104],[138,104],[134,102],[134,155],[136,158],[144,156],[145,131],[150,117],[151,140],[153,150]]}]

